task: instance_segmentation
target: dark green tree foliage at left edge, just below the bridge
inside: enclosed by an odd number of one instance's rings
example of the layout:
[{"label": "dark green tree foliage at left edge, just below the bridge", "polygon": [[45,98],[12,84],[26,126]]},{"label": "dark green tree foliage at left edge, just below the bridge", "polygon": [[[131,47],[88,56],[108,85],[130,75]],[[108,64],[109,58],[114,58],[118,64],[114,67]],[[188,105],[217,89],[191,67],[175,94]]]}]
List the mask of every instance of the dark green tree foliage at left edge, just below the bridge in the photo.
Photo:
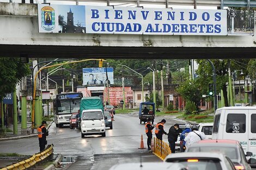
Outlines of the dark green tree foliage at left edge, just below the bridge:
[{"label": "dark green tree foliage at left edge, just below the bridge", "polygon": [[28,74],[28,64],[21,63],[19,58],[0,58],[0,98],[13,92],[16,84]]}]

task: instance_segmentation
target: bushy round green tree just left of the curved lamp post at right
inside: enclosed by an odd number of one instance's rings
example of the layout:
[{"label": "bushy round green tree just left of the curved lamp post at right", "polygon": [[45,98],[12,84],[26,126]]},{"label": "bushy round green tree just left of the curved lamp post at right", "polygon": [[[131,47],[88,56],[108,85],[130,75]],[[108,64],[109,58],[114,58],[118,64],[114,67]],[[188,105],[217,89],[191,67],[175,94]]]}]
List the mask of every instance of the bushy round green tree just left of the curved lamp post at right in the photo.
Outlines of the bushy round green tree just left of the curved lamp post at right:
[{"label": "bushy round green tree just left of the curved lamp post at right", "polygon": [[199,111],[202,90],[201,85],[196,80],[186,80],[176,90],[186,101],[190,101],[196,105],[196,109]]}]

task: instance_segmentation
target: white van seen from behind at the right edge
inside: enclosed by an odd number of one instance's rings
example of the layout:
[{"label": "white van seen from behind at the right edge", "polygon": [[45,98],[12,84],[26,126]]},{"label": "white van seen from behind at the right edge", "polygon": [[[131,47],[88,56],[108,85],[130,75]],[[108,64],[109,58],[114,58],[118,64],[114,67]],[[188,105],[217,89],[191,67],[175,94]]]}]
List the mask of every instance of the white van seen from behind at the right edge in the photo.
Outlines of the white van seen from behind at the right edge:
[{"label": "white van seen from behind at the right edge", "polygon": [[256,157],[256,107],[224,107],[216,110],[212,139],[230,139]]}]

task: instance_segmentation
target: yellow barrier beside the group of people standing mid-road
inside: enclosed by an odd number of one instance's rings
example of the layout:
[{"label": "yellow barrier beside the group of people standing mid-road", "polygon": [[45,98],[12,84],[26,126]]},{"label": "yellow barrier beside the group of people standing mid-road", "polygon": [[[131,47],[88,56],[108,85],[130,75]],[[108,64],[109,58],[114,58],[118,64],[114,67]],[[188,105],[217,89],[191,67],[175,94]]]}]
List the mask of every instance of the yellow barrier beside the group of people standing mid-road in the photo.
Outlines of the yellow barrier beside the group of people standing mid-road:
[{"label": "yellow barrier beside the group of people standing mid-road", "polygon": [[172,151],[170,151],[169,144],[159,140],[156,137],[154,137],[154,145],[153,146],[154,146],[154,152],[153,153],[157,157],[159,157],[161,160],[164,160],[164,158],[166,158],[167,155],[172,153]]}]

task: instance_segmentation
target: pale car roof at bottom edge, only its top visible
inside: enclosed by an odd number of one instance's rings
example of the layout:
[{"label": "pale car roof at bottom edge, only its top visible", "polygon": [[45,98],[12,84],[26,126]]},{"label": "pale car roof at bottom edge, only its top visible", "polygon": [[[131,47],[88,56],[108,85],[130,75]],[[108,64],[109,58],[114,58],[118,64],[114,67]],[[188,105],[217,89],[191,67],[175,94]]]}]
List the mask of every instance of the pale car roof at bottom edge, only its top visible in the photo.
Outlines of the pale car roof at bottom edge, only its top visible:
[{"label": "pale car roof at bottom edge, only its top visible", "polygon": [[109,170],[187,170],[180,163],[165,163],[165,162],[142,162],[142,163],[122,163],[112,166]]}]

